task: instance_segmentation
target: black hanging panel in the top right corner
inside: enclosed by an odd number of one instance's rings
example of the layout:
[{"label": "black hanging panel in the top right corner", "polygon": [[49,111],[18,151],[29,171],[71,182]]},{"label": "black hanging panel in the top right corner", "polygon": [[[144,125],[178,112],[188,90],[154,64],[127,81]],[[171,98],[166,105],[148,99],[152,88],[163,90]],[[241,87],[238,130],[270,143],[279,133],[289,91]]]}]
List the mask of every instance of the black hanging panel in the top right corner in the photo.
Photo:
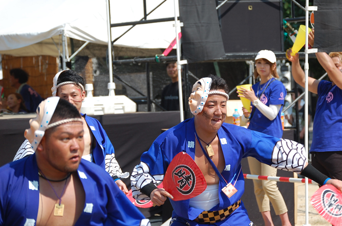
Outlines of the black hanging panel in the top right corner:
[{"label": "black hanging panel in the top right corner", "polygon": [[315,44],[318,52],[342,51],[342,2],[341,0],[314,0]]}]

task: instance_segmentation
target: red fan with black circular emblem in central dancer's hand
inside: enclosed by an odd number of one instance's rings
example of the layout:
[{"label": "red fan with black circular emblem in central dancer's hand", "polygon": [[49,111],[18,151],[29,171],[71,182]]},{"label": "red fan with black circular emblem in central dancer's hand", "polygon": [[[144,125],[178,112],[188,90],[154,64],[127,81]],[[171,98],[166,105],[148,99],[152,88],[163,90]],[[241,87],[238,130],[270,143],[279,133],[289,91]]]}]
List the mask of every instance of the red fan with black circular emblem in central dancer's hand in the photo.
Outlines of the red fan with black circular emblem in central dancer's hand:
[{"label": "red fan with black circular emblem in central dancer's hand", "polygon": [[164,189],[173,196],[173,201],[190,199],[207,188],[201,170],[190,155],[183,151],[172,159],[163,183]]}]

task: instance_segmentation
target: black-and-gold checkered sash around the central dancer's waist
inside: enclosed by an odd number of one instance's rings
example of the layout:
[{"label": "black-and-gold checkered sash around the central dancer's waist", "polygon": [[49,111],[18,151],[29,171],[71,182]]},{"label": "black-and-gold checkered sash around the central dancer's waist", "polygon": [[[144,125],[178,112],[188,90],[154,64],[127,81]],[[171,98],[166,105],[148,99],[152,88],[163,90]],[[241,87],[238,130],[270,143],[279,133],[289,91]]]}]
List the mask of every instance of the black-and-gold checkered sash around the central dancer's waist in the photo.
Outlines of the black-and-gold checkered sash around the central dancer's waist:
[{"label": "black-and-gold checkered sash around the central dancer's waist", "polygon": [[223,221],[229,215],[231,215],[233,211],[240,206],[240,204],[241,204],[241,199],[238,200],[236,203],[234,203],[232,206],[229,206],[221,210],[203,211],[202,213],[198,215],[196,219],[194,219],[194,221],[198,222],[199,224],[214,224],[214,223]]}]

